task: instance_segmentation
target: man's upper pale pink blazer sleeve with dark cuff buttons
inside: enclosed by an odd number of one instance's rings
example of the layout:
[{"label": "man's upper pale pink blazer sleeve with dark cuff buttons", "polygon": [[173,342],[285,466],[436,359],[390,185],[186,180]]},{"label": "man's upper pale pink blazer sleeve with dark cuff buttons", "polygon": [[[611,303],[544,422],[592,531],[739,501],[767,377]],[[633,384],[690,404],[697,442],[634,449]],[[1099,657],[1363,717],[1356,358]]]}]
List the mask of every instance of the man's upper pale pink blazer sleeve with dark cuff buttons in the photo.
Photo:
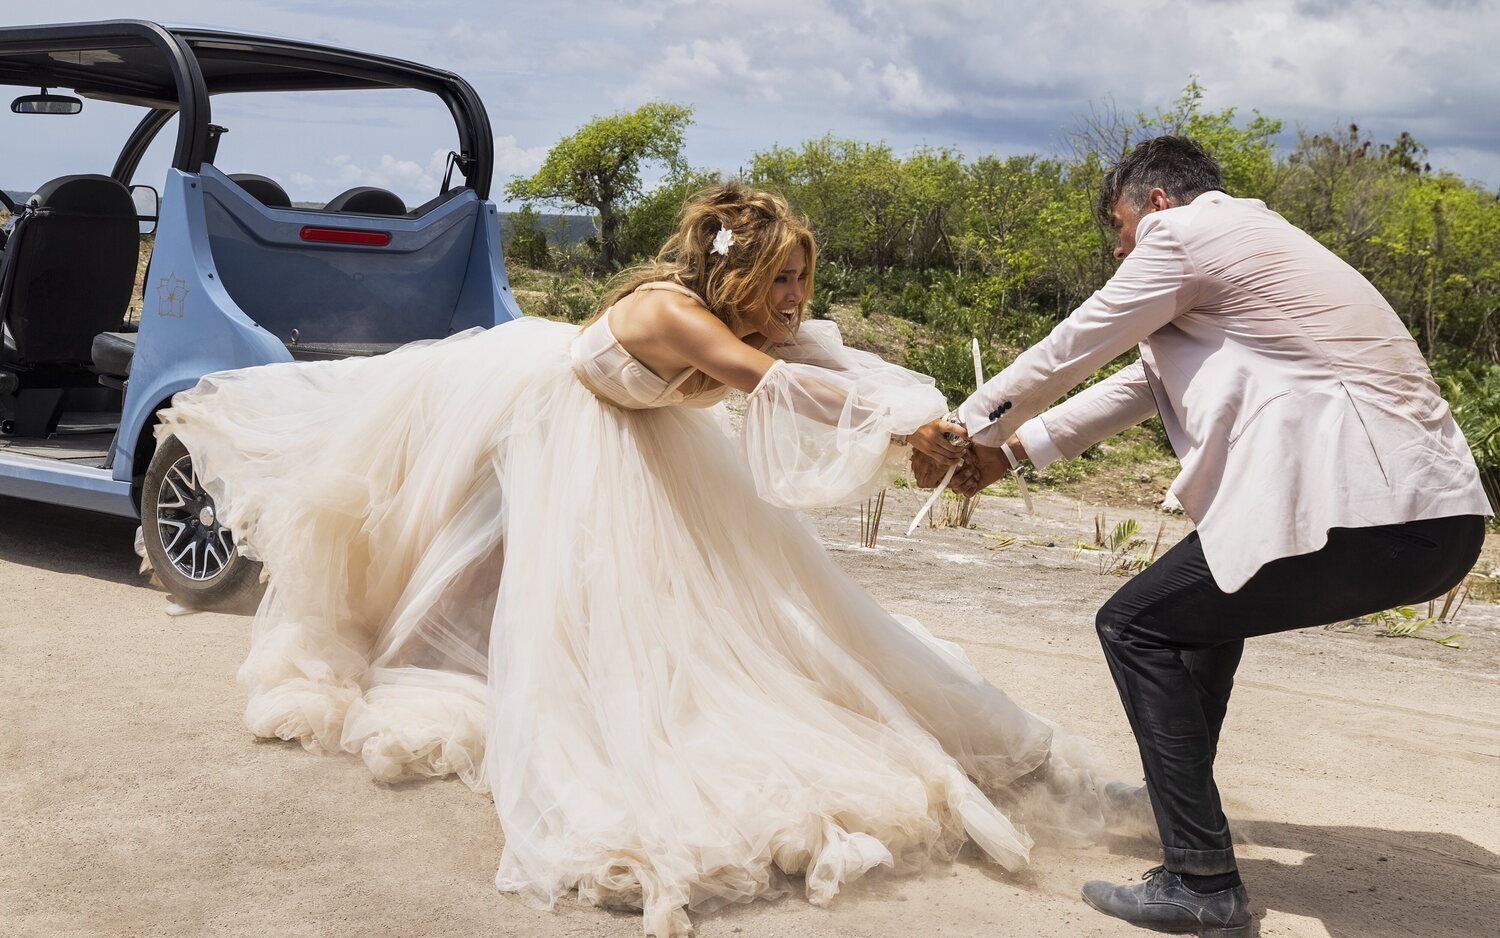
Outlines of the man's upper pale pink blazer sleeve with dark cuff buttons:
[{"label": "man's upper pale pink blazer sleeve with dark cuff buttons", "polygon": [[[958,416],[970,438],[986,446],[1005,443],[1022,423],[1192,308],[1198,290],[1197,269],[1168,221],[1161,218],[1168,215],[1155,212],[1142,219],[1136,249],[1110,282],[963,402]],[[1144,381],[1144,371],[1140,375]],[[1119,386],[1112,386],[1112,390],[1119,390]],[[1128,399],[1136,408],[1130,414],[1137,413],[1138,399]],[[1098,407],[1108,404],[1090,401]],[[1010,407],[1005,407],[1006,402]],[[1098,422],[1101,416],[1095,414],[1095,422],[1082,422],[1078,429],[1088,435],[1095,426],[1130,426],[1118,423],[1124,417]],[[1050,422],[1047,426],[1052,431]]]}]

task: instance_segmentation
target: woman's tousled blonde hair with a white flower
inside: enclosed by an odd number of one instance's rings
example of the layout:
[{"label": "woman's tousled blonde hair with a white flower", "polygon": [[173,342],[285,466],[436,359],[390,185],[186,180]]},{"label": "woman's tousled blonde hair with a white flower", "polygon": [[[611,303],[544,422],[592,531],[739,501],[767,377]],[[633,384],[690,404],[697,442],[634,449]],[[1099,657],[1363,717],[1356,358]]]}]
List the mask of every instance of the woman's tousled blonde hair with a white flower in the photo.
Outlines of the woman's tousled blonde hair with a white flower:
[{"label": "woman's tousled blonde hair with a white flower", "polygon": [[[734,233],[734,243],[718,254],[712,249],[714,239],[724,228]],[[718,183],[687,201],[676,233],[651,263],[616,278],[603,309],[642,284],[670,281],[696,293],[710,312],[738,333],[747,312],[771,311],[771,285],[798,246],[807,260],[806,303],[813,293],[816,263],[816,246],[807,224],[792,213],[780,195],[738,182]],[[786,341],[792,336],[766,338]]]}]

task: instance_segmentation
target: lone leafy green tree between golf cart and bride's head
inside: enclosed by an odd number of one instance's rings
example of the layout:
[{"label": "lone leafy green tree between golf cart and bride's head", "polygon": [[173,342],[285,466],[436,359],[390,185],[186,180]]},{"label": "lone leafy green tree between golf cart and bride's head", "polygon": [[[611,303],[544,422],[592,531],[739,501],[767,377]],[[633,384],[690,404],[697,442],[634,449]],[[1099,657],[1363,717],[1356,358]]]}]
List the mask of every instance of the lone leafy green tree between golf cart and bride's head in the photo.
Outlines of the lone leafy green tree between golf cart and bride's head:
[{"label": "lone leafy green tree between golf cart and bride's head", "polygon": [[506,195],[597,212],[598,260],[614,269],[620,261],[621,215],[640,198],[642,167],[654,162],[669,174],[684,173],[682,134],[692,122],[693,108],[670,102],[596,117],[560,140],[534,176],[512,180]]}]

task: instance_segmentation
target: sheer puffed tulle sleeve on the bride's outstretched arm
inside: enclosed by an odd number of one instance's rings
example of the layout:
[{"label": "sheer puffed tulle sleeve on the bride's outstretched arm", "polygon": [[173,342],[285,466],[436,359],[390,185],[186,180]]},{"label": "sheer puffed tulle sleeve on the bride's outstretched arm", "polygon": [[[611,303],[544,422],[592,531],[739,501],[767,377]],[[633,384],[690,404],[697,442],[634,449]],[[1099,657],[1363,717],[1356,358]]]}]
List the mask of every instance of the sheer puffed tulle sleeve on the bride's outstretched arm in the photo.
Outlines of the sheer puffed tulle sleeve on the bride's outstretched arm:
[{"label": "sheer puffed tulle sleeve on the bride's outstretched arm", "polygon": [[898,471],[904,435],[948,413],[927,375],[848,348],[838,327],[804,323],[750,393],[744,446],[756,491],[806,509],[860,500]]}]

